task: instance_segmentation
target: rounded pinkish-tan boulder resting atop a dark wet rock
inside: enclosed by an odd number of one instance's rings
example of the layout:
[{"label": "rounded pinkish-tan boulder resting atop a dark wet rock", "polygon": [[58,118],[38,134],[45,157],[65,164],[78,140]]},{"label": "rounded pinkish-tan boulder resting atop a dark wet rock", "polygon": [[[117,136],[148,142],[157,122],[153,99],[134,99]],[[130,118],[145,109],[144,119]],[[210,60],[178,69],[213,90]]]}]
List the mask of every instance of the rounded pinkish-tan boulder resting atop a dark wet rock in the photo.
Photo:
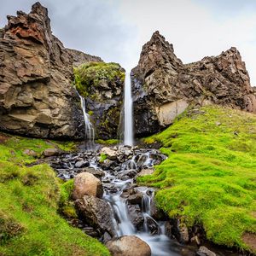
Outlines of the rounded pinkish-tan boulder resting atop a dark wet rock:
[{"label": "rounded pinkish-tan boulder resting atop a dark wet rock", "polygon": [[77,200],[84,195],[102,198],[102,182],[89,172],[81,172],[74,177],[73,199]]}]

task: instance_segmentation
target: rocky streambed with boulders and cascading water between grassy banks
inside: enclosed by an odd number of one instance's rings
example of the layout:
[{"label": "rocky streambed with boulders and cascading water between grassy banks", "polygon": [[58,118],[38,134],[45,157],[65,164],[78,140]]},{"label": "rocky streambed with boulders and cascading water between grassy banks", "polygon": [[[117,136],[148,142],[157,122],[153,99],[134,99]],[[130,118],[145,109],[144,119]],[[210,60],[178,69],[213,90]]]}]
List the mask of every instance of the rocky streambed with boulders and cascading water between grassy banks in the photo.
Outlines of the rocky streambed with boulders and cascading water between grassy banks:
[{"label": "rocky streambed with boulders and cascading water between grassy banks", "polygon": [[70,224],[105,243],[113,255],[238,255],[201,247],[199,227],[189,230],[167,218],[155,205],[154,189],[137,186],[138,176],[154,172],[165,159],[156,149],[119,146],[81,149],[49,163],[61,179],[74,178],[79,219]]}]

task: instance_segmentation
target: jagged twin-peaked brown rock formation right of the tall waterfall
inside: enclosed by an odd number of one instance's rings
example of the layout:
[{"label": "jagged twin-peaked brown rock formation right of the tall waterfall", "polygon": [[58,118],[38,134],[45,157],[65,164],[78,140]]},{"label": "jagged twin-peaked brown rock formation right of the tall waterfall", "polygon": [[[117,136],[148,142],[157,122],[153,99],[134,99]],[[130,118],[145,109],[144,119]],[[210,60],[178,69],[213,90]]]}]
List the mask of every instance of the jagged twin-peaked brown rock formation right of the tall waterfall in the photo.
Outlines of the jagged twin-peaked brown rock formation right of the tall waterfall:
[{"label": "jagged twin-peaked brown rock formation right of the tall waterfall", "polygon": [[256,97],[245,63],[232,47],[218,56],[183,64],[172,44],[154,32],[131,71],[137,136],[172,124],[190,103],[212,102],[256,112]]}]

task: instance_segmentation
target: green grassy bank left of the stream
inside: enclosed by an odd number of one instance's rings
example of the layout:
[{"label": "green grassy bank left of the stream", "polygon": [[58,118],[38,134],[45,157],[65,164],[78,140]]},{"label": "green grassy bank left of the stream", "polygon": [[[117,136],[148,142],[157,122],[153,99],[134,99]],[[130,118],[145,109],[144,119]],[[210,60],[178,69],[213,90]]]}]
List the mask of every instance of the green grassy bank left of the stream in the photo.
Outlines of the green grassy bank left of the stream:
[{"label": "green grassy bank left of the stream", "polygon": [[0,134],[0,255],[109,255],[100,242],[57,213],[69,184],[65,189],[48,165],[25,166],[35,160],[26,149],[40,155],[56,146]]}]

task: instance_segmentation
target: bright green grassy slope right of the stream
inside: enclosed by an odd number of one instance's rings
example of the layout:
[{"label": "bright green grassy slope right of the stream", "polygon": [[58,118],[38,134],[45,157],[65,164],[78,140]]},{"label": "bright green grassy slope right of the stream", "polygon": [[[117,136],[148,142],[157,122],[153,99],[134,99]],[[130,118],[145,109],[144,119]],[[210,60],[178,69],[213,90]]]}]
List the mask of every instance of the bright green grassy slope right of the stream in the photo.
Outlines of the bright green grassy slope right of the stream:
[{"label": "bright green grassy slope right of the stream", "polygon": [[256,233],[256,116],[207,106],[176,119],[146,143],[162,143],[168,159],[139,183],[159,188],[158,206],[207,239],[250,250],[242,235]]}]

